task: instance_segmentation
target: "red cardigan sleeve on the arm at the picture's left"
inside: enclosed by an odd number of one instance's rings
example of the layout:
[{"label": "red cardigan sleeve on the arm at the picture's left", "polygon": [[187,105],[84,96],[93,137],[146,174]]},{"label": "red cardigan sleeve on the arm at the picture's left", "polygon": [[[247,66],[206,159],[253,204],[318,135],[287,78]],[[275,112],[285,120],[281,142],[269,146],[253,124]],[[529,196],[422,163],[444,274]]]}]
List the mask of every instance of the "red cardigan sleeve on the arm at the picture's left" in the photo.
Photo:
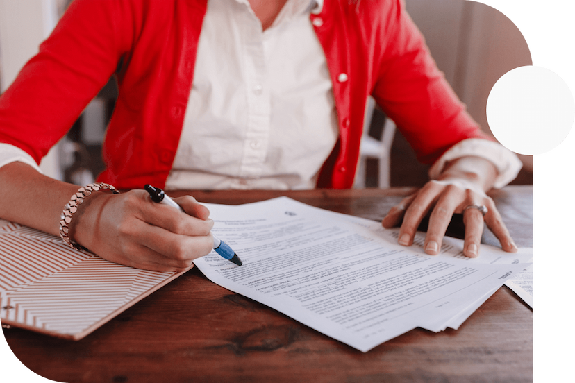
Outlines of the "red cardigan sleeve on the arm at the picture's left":
[{"label": "red cardigan sleeve on the arm at the picture's left", "polygon": [[71,3],[0,96],[0,142],[40,163],[114,73],[122,56],[117,24],[123,13],[117,0]]}]

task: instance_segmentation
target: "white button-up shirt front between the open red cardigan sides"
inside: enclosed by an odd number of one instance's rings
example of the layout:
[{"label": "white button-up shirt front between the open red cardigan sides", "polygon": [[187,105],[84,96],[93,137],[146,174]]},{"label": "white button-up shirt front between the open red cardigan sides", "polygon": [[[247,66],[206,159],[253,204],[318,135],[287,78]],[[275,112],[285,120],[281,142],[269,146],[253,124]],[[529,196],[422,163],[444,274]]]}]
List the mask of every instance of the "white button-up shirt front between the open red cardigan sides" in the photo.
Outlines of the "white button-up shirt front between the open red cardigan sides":
[{"label": "white button-up shirt front between the open red cardigan sides", "polygon": [[302,189],[338,139],[331,79],[310,12],[289,0],[272,26],[247,0],[210,0],[166,189]]}]

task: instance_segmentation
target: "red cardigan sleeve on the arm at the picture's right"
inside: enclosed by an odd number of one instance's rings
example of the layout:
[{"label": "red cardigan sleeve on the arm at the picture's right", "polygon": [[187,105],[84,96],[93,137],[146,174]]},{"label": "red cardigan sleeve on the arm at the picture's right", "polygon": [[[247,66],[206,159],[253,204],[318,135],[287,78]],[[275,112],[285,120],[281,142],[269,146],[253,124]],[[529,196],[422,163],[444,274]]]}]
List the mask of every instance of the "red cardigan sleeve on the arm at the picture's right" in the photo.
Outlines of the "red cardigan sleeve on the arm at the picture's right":
[{"label": "red cardigan sleeve on the arm at the picture's right", "polygon": [[378,31],[380,66],[372,95],[397,124],[425,164],[467,138],[487,138],[459,101],[403,9],[390,1],[390,12]]}]

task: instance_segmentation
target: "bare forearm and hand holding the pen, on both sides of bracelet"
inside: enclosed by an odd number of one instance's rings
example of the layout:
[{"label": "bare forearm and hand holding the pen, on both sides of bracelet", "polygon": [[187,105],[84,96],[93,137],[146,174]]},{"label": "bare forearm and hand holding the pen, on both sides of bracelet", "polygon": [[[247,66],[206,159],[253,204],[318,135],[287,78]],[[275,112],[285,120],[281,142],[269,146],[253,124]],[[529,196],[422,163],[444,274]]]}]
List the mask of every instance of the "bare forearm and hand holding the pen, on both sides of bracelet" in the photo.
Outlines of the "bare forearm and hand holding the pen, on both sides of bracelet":
[{"label": "bare forearm and hand holding the pen, on both sides of bracelet", "polygon": [[[142,185],[143,186],[143,185]],[[42,175],[22,162],[0,167],[0,218],[59,235],[60,214],[78,186]],[[194,198],[154,203],[144,190],[96,191],[69,224],[72,241],[111,262],[154,271],[184,271],[210,253],[213,221]]]}]

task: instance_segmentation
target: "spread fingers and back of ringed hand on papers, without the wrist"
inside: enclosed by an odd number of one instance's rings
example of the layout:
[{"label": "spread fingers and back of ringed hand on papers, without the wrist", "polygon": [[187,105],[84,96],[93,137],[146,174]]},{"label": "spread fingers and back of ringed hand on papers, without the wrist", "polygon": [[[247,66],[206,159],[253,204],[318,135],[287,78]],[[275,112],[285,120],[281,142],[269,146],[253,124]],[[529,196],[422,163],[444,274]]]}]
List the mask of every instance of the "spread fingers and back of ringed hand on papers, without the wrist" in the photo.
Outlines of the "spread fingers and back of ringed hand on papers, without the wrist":
[{"label": "spread fingers and back of ringed hand on papers, without the wrist", "polygon": [[[485,205],[487,214],[476,208],[465,209],[469,205]],[[422,189],[403,198],[399,205],[392,207],[383,218],[382,225],[392,228],[401,223],[399,244],[410,246],[415,232],[425,216],[429,216],[428,230],[424,241],[424,251],[430,255],[440,253],[443,237],[453,214],[463,214],[465,239],[463,254],[477,257],[484,223],[499,239],[503,250],[514,253],[517,246],[497,211],[492,198],[476,188],[462,184],[430,181]]]}]

